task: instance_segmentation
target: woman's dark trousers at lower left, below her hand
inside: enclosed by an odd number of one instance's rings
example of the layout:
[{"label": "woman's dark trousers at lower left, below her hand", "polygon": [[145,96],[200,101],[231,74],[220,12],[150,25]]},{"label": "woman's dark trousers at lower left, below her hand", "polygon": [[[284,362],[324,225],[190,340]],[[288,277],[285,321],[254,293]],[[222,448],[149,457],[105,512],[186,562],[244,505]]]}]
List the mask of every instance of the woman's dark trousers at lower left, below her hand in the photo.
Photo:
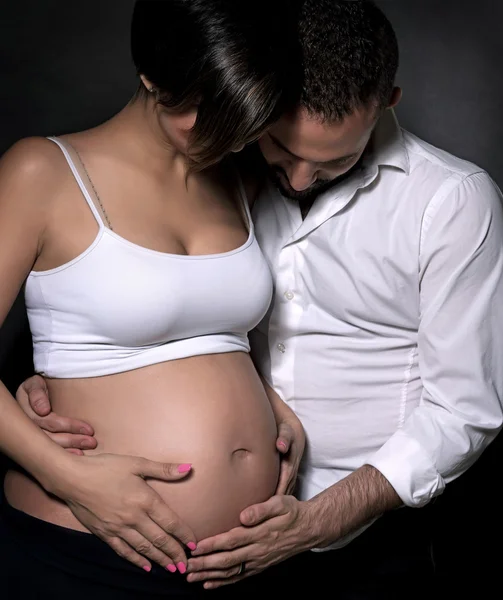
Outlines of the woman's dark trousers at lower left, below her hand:
[{"label": "woman's dark trousers at lower left, below her hand", "polygon": [[[96,536],[31,517],[2,502],[2,600],[154,600],[215,598],[180,573],[153,564],[146,573]],[[232,597],[232,596],[231,596]]]}]

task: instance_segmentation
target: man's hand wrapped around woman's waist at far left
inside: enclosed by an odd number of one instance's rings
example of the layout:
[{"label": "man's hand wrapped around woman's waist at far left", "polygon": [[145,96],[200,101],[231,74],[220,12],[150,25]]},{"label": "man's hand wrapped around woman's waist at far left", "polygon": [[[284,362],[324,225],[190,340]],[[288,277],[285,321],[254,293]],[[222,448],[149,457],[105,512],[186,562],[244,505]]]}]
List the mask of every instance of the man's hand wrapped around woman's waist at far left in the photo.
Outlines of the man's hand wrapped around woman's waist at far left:
[{"label": "man's hand wrapped around woman's waist at far left", "polygon": [[94,430],[88,423],[52,412],[49,391],[40,375],[30,377],[18,387],[16,400],[30,419],[68,452],[82,455],[82,450],[96,448]]}]

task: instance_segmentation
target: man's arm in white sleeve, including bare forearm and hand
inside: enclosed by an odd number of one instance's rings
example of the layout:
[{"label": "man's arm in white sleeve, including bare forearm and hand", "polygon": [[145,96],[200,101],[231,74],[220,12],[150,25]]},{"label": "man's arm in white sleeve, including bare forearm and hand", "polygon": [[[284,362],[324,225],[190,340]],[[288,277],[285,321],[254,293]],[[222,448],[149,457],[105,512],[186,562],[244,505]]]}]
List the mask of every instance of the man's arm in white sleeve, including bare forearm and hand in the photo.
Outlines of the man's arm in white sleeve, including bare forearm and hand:
[{"label": "man's arm in white sleeve, including bare forearm and hand", "polygon": [[402,503],[422,506],[495,438],[503,422],[501,200],[488,175],[477,173],[434,199],[425,215],[418,275],[424,392],[404,426],[366,465],[311,500],[276,496],[243,511],[242,528],[202,540],[190,581],[233,583],[328,546]]}]

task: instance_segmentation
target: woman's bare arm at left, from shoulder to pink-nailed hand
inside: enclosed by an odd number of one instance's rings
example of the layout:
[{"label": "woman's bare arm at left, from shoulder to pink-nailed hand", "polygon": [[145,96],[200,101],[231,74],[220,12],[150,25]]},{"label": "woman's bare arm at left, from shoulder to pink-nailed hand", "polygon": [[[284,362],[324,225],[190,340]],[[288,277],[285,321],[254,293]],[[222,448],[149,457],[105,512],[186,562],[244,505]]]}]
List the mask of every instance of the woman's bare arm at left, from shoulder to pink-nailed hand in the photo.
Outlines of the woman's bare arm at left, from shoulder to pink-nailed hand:
[{"label": "woman's bare arm at left, from shoulder to pink-nailed hand", "polygon": [[[0,160],[0,323],[43,254],[53,198],[65,172],[61,160],[42,138],[18,142]],[[151,565],[143,555],[185,571],[183,544],[195,547],[193,532],[144,479],[181,479],[190,465],[105,454],[76,457],[32,423],[1,383],[0,452],[64,500],[124,558],[146,570]]]}]

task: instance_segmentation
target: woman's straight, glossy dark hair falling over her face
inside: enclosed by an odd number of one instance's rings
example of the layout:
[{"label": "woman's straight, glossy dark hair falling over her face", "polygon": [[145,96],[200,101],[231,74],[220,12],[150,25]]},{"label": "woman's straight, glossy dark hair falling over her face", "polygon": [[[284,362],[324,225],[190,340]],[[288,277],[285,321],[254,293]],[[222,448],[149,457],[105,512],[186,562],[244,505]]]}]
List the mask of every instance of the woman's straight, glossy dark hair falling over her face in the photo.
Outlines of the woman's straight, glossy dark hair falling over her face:
[{"label": "woman's straight, glossy dark hair falling over her face", "polygon": [[152,82],[158,102],[168,109],[181,113],[197,106],[189,151],[193,169],[259,137],[298,100],[298,79],[289,67],[298,40],[294,27],[284,27],[285,5],[283,0],[136,2],[131,51],[137,73]]}]

